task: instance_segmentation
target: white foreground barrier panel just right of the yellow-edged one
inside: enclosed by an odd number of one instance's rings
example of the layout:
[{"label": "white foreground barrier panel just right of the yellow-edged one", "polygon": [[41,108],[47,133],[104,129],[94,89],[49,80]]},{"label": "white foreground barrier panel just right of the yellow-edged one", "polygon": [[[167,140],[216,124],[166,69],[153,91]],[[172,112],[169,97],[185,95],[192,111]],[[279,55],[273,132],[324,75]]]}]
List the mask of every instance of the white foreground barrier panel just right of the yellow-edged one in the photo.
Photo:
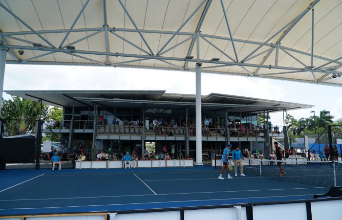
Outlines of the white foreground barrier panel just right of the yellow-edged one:
[{"label": "white foreground barrier panel just right of the yellow-edged one", "polygon": [[179,211],[116,215],[115,220],[180,220]]}]

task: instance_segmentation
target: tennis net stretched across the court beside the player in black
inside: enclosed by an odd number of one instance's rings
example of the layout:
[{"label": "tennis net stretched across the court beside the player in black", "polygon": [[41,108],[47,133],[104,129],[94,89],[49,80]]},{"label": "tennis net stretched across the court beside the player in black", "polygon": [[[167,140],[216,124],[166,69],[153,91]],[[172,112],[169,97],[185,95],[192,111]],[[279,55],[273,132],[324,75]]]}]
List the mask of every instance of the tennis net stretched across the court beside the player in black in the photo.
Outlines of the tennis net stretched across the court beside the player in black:
[{"label": "tennis net stretched across the court beside the player in black", "polygon": [[[278,162],[285,171],[280,177]],[[244,166],[244,173],[320,187],[342,186],[342,162],[338,161],[263,161],[259,166]]]}]

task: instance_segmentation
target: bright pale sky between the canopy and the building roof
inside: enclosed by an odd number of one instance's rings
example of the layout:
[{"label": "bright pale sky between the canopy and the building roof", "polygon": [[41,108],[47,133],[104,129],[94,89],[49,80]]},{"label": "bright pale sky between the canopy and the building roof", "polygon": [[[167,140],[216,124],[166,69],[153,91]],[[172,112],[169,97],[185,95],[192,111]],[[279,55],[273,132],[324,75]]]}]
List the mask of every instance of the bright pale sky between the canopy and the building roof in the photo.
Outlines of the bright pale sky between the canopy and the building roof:
[{"label": "bright pale sky between the canopy and the building roof", "polygon": [[[222,93],[314,105],[291,110],[296,119],[328,110],[342,118],[342,87],[290,81],[202,73],[202,95]],[[195,94],[195,73],[120,67],[6,65],[4,90],[166,90]],[[3,93],[4,99],[10,96]],[[282,112],[270,114],[273,125],[283,125]]]}]

